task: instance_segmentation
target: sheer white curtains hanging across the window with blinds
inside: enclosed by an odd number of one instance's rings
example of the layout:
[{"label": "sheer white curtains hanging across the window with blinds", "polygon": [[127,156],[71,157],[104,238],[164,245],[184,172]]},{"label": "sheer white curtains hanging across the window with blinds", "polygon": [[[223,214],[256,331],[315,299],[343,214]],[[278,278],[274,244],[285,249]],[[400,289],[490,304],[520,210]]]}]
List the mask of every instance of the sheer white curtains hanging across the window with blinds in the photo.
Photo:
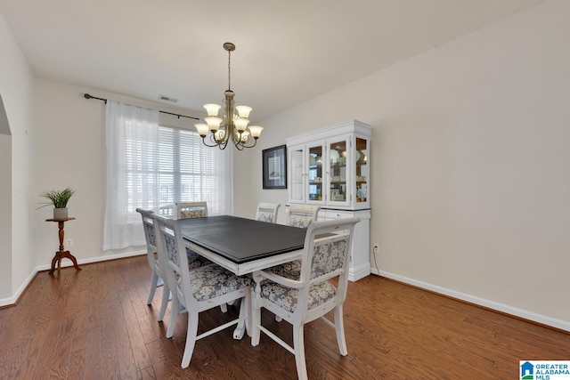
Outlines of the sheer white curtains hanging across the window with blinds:
[{"label": "sheer white curtains hanging across the window with blinds", "polygon": [[233,213],[232,148],[159,125],[159,111],[107,101],[107,193],[103,250],[145,244],[137,207],[172,215],[178,201],[205,200],[208,214]]}]

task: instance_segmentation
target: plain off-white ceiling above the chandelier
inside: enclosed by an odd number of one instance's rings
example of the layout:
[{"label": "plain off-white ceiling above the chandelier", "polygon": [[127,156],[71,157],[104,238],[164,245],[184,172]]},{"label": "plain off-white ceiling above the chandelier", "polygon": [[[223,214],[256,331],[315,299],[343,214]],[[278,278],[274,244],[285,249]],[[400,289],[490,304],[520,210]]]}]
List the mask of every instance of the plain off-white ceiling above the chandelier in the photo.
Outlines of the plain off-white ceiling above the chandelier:
[{"label": "plain off-white ceiling above the chandelier", "polygon": [[0,0],[0,13],[36,77],[200,111],[224,96],[230,41],[255,121],[540,2]]}]

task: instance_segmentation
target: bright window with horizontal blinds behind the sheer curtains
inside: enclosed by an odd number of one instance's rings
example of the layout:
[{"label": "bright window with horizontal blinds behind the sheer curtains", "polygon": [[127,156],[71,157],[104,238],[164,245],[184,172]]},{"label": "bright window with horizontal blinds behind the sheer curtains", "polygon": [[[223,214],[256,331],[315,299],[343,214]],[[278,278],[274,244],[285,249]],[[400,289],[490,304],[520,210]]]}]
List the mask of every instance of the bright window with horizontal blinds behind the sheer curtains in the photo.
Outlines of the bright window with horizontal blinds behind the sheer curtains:
[{"label": "bright window with horizontal blinds behind the sheer curtains", "polygon": [[216,150],[206,147],[198,133],[160,125],[155,158],[143,147],[136,128],[138,123],[126,123],[128,213],[142,207],[175,215],[179,201],[206,201],[209,214],[227,213],[220,207],[223,202],[216,200]]}]

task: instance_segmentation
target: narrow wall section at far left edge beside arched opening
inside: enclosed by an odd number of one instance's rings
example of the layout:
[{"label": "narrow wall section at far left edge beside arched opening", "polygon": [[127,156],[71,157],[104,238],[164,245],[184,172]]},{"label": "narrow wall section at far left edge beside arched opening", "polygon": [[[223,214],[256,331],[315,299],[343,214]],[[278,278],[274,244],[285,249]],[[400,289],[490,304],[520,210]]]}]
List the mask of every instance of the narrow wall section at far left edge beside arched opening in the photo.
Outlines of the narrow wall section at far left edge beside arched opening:
[{"label": "narrow wall section at far left edge beside arched opening", "polygon": [[[34,253],[31,242],[33,230],[30,223],[30,187],[33,175],[32,166],[32,90],[33,77],[20,47],[13,39],[12,32],[0,13],[0,96],[8,120],[9,139],[3,138],[3,146],[11,144],[10,168],[0,166],[0,175],[7,185],[0,190],[0,198],[10,199],[12,241],[3,241],[0,250],[0,301],[12,297],[22,290],[29,275],[34,270]],[[10,140],[8,142],[7,140]],[[3,153],[3,159],[5,153]],[[7,190],[9,189],[9,190]],[[4,245],[4,243],[6,245]],[[1,303],[1,302],[0,302]]]}]

